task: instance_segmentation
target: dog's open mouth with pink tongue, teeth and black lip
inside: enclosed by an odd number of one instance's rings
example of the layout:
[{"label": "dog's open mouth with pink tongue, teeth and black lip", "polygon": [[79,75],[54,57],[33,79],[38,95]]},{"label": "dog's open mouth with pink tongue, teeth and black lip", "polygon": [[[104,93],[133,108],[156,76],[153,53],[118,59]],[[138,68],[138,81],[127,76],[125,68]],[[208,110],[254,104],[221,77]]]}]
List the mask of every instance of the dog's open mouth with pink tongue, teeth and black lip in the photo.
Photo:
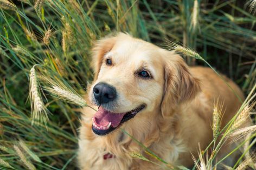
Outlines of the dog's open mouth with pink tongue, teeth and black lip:
[{"label": "dog's open mouth with pink tongue, teeth and black lip", "polygon": [[121,123],[124,123],[134,117],[145,106],[139,106],[136,109],[126,113],[112,113],[99,107],[98,112],[92,117],[92,130],[97,135],[106,135],[116,129]]}]

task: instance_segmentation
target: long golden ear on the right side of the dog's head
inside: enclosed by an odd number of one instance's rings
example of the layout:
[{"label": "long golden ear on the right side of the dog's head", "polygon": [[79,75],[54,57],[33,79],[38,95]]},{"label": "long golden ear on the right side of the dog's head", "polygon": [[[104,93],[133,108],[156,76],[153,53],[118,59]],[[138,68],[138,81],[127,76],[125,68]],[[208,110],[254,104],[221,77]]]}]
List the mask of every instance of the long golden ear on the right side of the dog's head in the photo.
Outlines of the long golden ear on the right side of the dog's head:
[{"label": "long golden ear on the right side of the dog's head", "polygon": [[178,104],[194,99],[201,90],[199,79],[191,75],[180,55],[168,51],[164,67],[163,116],[169,116]]}]

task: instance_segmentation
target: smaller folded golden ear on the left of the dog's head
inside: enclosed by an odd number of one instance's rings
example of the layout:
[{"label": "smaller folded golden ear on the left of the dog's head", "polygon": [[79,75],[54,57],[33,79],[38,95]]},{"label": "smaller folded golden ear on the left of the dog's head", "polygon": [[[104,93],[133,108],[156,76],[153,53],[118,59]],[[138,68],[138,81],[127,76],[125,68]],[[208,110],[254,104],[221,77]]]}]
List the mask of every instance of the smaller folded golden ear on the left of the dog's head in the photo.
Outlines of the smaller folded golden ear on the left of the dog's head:
[{"label": "smaller folded golden ear on the left of the dog's head", "polygon": [[95,42],[92,49],[92,68],[94,70],[94,80],[98,78],[104,55],[110,51],[116,43],[116,36],[108,36]]}]

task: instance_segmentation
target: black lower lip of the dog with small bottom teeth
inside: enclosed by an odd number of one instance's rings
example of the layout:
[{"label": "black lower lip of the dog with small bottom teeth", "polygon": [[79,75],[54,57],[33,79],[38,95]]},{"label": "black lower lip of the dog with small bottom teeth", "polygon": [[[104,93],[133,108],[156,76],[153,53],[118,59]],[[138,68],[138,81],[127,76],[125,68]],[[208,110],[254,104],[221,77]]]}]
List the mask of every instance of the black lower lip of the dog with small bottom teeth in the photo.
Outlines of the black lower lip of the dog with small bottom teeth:
[{"label": "black lower lip of the dog with small bottom teeth", "polygon": [[[124,123],[124,122],[126,122],[126,121],[132,119],[133,117],[135,117],[135,115],[136,115],[137,113],[139,113],[141,110],[143,110],[144,108],[145,108],[145,105],[143,104],[143,105],[137,107],[136,109],[133,109],[133,110],[131,110],[130,112],[127,112],[127,113],[124,115],[123,119],[121,120],[121,122],[120,122],[120,124],[119,124],[118,126],[120,126],[121,123]],[[108,127],[106,126],[105,128],[104,128],[104,127],[99,127],[99,126],[97,126],[97,125],[95,126],[94,122],[93,122],[93,126],[92,126],[93,132],[94,132],[95,134],[97,134],[97,135],[106,135],[106,134],[112,132],[112,131],[113,131],[114,129],[116,129],[116,128],[117,128],[117,127],[113,127],[113,126],[108,126]]]}]

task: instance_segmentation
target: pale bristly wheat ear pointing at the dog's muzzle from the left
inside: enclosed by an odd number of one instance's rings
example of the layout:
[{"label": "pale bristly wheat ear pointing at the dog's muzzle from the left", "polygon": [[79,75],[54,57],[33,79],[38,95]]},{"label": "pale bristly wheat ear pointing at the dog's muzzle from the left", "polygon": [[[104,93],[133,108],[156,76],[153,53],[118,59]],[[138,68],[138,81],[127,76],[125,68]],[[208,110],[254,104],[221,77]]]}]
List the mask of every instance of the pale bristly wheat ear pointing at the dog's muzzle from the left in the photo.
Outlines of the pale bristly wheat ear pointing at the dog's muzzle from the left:
[{"label": "pale bristly wheat ear pointing at the dog's muzzle from the left", "polygon": [[60,88],[58,86],[47,88],[47,90],[62,100],[77,104],[78,106],[87,106],[86,101],[72,91]]}]

